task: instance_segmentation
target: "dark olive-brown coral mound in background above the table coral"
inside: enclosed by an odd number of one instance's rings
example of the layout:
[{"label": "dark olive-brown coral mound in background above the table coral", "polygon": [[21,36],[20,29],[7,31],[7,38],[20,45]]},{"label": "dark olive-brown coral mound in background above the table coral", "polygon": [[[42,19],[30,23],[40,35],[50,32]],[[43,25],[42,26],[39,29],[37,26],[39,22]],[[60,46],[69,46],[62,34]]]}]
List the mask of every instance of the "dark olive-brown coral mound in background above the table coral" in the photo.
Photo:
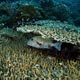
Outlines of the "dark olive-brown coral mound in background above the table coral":
[{"label": "dark olive-brown coral mound in background above the table coral", "polygon": [[34,6],[32,5],[21,5],[19,7],[19,10],[21,12],[21,16],[26,17],[26,18],[40,18],[40,12],[38,11],[38,9],[36,9]]}]

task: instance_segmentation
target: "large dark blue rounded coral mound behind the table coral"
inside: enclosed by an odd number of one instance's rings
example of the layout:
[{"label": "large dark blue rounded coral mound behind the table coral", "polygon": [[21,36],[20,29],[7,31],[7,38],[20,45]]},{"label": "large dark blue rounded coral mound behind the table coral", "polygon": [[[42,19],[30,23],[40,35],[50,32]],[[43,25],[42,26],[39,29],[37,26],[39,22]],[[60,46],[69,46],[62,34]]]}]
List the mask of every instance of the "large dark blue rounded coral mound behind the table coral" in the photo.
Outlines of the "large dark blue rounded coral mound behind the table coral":
[{"label": "large dark blue rounded coral mound behind the table coral", "polygon": [[40,6],[44,14],[46,13],[45,18],[47,19],[56,17],[58,20],[67,21],[70,17],[69,8],[64,4],[59,4],[53,0],[40,0]]}]

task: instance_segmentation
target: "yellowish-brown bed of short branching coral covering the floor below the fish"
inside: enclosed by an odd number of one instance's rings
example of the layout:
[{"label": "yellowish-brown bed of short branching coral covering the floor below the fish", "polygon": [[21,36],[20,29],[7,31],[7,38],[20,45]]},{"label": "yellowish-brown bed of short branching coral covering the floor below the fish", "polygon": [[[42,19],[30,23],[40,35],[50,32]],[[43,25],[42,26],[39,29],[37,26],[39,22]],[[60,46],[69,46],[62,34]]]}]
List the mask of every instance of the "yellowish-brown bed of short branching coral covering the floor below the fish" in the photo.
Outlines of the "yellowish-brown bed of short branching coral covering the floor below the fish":
[{"label": "yellowish-brown bed of short branching coral covering the floor below the fish", "polygon": [[0,80],[79,80],[80,57],[54,57],[24,43],[25,37],[0,36]]}]

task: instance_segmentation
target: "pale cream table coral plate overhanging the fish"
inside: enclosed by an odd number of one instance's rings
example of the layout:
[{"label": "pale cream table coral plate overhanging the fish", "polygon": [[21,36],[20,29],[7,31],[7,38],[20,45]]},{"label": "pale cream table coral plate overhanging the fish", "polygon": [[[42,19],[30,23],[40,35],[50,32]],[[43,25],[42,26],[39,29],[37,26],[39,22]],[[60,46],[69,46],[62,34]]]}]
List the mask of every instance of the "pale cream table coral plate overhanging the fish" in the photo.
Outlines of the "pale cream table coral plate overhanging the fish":
[{"label": "pale cream table coral plate overhanging the fish", "polygon": [[43,38],[51,38],[56,41],[70,43],[80,46],[80,33],[75,31],[66,31],[63,28],[45,27],[39,25],[25,25],[17,28],[17,31],[23,33],[39,34]]}]

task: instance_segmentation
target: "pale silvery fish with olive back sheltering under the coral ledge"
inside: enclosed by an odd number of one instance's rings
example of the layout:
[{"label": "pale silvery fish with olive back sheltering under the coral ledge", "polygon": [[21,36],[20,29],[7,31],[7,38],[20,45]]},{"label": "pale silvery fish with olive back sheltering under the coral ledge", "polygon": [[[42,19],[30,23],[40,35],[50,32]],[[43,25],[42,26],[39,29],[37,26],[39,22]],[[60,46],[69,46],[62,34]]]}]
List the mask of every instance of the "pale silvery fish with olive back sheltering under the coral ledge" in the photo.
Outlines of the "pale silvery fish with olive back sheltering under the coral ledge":
[{"label": "pale silvery fish with olive back sheltering under the coral ledge", "polygon": [[42,36],[32,37],[28,42],[28,46],[35,47],[38,49],[54,49],[61,51],[62,42],[53,42],[50,38],[43,38]]}]

